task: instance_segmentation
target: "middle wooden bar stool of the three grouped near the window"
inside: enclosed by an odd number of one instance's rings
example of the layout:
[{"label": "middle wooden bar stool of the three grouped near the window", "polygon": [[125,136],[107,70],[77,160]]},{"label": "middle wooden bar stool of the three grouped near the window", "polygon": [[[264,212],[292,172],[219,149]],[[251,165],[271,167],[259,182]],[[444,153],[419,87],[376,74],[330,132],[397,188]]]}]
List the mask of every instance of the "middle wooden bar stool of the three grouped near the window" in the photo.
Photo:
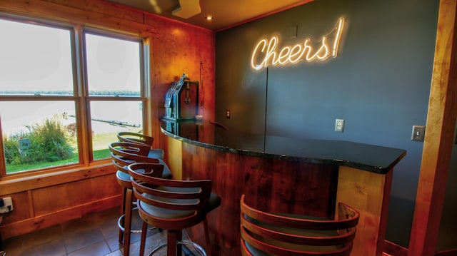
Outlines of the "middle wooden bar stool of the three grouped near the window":
[{"label": "middle wooden bar stool of the three grouped near the window", "polygon": [[131,230],[131,213],[134,210],[131,177],[127,170],[127,165],[131,163],[160,163],[164,167],[162,178],[171,178],[171,171],[166,166],[164,160],[149,158],[141,154],[149,150],[149,146],[136,143],[114,142],[109,145],[113,165],[116,167],[116,179],[123,188],[121,216],[119,217],[119,242],[124,242],[124,256],[130,252],[130,238],[132,232],[141,230]]}]

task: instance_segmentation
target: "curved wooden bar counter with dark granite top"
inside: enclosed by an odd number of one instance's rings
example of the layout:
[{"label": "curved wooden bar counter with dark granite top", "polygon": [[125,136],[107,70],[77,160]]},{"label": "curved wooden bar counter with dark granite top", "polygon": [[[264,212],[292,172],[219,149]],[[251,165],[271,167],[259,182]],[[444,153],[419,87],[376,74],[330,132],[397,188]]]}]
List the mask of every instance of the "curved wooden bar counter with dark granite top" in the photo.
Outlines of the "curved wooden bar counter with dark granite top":
[{"label": "curved wooden bar counter with dark granite top", "polygon": [[[239,255],[239,200],[262,210],[361,217],[352,255],[382,255],[393,167],[406,150],[340,140],[250,135],[209,121],[162,121],[176,178],[211,179],[222,205],[209,213],[213,255]],[[250,201],[250,202],[249,202]],[[205,245],[199,227],[189,235]]]}]

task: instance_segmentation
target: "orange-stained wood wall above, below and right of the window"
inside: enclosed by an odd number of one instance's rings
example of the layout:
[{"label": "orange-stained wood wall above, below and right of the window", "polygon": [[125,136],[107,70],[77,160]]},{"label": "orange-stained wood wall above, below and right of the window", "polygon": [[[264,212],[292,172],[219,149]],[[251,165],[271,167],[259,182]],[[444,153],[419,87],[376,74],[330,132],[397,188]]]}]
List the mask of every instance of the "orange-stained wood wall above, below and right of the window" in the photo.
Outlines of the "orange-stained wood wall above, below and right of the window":
[{"label": "orange-stained wood wall above, below and right of the window", "polygon": [[[0,12],[119,31],[146,39],[150,46],[151,97],[146,133],[154,147],[164,144],[160,120],[171,81],[187,73],[200,82],[201,114],[214,119],[214,32],[101,0],[6,0]],[[82,141],[81,143],[86,144]],[[0,178],[0,196],[11,196],[14,211],[4,217],[1,237],[21,235],[86,213],[116,207],[121,188],[111,163],[85,163],[61,173]]]}]

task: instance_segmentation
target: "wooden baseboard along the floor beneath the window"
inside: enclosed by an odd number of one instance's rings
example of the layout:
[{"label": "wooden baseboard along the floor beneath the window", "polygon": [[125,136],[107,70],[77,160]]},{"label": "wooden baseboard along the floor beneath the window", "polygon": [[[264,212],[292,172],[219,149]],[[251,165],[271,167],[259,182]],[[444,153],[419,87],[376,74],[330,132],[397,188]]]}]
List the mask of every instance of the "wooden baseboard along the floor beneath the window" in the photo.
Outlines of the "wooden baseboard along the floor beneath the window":
[{"label": "wooden baseboard along the floor beneath the window", "polygon": [[14,222],[9,225],[1,225],[1,239],[24,235],[35,230],[40,230],[44,227],[57,225],[68,220],[74,220],[88,213],[96,213],[101,210],[114,208],[122,202],[121,195],[116,195],[111,198],[104,198],[91,203],[78,205],[74,208],[67,208],[58,212],[49,213],[46,215],[36,216],[20,222]]}]

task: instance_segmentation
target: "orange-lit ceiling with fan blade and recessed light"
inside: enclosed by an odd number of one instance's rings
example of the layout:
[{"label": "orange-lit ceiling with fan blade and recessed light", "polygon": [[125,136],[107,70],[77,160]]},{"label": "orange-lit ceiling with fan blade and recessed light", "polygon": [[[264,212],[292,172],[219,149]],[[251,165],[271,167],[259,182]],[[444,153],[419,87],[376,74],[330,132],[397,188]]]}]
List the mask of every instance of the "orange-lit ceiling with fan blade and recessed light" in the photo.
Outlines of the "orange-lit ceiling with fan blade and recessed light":
[{"label": "orange-lit ceiling with fan blade and recessed light", "polygon": [[[129,6],[151,14],[159,14],[170,19],[194,24],[213,31],[219,31],[259,16],[271,14],[312,0],[199,0],[201,13],[183,19],[172,12],[179,9],[180,0],[106,0],[115,4]],[[191,0],[181,0],[181,2]],[[198,2],[198,0],[192,0]],[[188,2],[189,3],[189,2]],[[184,9],[184,8],[183,8]],[[214,17],[212,21],[206,16]]]}]

